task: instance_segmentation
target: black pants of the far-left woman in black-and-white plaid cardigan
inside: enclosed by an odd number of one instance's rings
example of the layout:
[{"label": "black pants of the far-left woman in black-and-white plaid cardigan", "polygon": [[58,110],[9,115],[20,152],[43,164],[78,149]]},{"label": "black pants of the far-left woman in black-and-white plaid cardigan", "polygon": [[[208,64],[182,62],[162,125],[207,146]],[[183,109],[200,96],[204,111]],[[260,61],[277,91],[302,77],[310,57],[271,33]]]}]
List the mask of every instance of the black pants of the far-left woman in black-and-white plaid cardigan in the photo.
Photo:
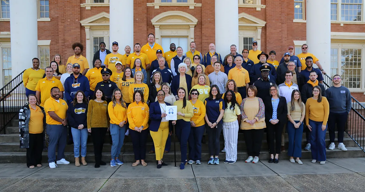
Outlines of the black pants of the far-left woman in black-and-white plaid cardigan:
[{"label": "black pants of the far-left woman in black-and-white plaid cardigan", "polygon": [[27,148],[27,167],[42,164],[43,133],[29,133],[29,148]]}]

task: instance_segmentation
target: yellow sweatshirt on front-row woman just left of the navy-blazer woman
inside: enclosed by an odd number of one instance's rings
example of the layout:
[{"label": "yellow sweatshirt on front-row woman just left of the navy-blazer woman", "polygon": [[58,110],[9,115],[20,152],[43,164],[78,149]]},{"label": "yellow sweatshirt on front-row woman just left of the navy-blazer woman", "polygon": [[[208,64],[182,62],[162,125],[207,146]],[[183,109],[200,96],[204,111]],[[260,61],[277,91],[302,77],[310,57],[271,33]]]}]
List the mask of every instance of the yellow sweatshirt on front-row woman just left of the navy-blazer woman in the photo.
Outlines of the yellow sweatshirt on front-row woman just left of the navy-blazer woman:
[{"label": "yellow sweatshirt on front-row woman just left of the navy-blazer woman", "polygon": [[139,102],[132,102],[128,106],[127,111],[128,121],[129,121],[129,128],[134,130],[135,127],[143,126],[143,130],[148,128],[148,120],[150,118],[150,108],[148,107],[147,103]]}]

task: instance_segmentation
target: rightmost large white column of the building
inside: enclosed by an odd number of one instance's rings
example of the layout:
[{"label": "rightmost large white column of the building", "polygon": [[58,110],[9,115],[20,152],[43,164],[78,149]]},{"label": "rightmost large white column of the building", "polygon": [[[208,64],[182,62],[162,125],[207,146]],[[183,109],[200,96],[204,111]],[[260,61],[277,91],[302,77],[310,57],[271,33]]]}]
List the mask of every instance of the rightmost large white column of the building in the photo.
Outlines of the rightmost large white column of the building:
[{"label": "rightmost large white column of the building", "polygon": [[329,73],[331,68],[331,3],[329,0],[306,0],[306,3],[308,52],[314,54],[324,70]]}]

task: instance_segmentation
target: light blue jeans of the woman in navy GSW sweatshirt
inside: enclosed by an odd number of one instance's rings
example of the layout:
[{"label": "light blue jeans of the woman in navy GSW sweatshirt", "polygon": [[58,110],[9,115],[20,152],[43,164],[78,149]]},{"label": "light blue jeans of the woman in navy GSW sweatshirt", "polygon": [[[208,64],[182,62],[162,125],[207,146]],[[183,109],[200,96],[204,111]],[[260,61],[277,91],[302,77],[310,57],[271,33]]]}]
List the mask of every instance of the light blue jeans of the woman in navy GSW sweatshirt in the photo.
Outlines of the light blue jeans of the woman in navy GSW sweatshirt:
[{"label": "light blue jeans of the woman in navy GSW sweatshirt", "polygon": [[[88,129],[76,129],[71,128],[73,139],[73,153],[74,157],[80,157],[80,144],[81,144],[81,157],[86,157],[86,144],[88,142]],[[81,141],[81,143],[80,143]]]}]

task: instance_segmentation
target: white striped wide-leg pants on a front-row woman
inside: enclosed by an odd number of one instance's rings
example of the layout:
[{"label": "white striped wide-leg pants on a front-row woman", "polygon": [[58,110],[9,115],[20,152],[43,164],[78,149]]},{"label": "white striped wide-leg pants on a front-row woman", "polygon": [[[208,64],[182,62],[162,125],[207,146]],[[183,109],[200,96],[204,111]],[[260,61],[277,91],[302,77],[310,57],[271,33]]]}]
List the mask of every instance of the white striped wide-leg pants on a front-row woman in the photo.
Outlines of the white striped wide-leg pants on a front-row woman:
[{"label": "white striped wide-leg pants on a front-row woman", "polygon": [[223,137],[226,160],[237,161],[238,120],[223,122]]}]

